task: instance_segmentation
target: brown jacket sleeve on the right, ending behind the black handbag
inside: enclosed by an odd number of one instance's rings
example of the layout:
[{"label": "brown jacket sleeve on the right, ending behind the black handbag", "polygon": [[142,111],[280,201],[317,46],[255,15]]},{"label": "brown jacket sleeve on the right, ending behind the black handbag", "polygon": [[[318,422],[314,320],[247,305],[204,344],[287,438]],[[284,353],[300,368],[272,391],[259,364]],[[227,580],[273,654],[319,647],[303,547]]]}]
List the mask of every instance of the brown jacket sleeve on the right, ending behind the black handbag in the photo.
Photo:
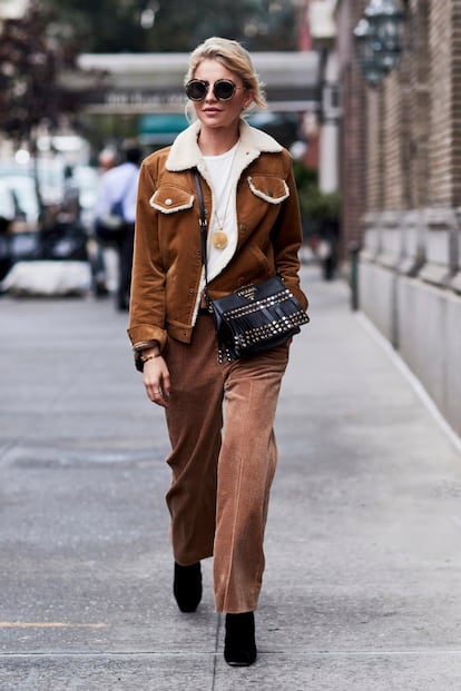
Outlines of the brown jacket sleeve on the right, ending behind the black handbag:
[{"label": "brown jacket sleeve on the right, ending behind the black handbag", "polygon": [[298,251],[303,241],[300,203],[290,154],[285,152],[285,157],[288,165],[286,184],[290,189],[290,196],[283,203],[283,208],[274,228],[275,268],[303,309],[307,309],[308,300],[300,286],[301,265]]}]

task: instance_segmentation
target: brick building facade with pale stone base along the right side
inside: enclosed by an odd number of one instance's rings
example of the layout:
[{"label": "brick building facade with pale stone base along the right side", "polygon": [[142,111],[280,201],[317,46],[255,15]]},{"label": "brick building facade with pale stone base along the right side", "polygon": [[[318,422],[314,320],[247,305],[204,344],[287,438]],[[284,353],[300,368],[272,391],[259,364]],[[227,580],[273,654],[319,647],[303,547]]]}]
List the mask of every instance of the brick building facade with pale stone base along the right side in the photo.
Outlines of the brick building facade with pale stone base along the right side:
[{"label": "brick building facade with pale stone base along the right side", "polygon": [[344,241],[360,306],[461,434],[461,0],[401,0],[403,52],[375,88],[337,0]]}]

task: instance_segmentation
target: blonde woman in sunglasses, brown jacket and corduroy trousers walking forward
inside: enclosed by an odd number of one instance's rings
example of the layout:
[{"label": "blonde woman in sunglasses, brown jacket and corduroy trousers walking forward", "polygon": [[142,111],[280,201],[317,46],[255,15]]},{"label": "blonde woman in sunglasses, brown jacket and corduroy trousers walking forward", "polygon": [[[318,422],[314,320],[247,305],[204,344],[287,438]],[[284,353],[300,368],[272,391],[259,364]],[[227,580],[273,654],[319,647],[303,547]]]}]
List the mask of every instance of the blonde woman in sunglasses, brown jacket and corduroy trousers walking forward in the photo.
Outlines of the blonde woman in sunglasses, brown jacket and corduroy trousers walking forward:
[{"label": "blonde woman in sunglasses, brown jacket and corduroy trousers walking forward", "polygon": [[147,395],[166,409],[177,604],[195,611],[200,560],[214,556],[224,657],[248,665],[257,654],[254,611],[277,460],[273,423],[290,345],[218,363],[194,171],[209,225],[212,299],[279,273],[306,307],[300,211],[290,154],[242,118],[252,103],[265,106],[247,51],[226,39],[205,41],[192,53],[186,95],[196,120],[141,166],[128,333]]}]

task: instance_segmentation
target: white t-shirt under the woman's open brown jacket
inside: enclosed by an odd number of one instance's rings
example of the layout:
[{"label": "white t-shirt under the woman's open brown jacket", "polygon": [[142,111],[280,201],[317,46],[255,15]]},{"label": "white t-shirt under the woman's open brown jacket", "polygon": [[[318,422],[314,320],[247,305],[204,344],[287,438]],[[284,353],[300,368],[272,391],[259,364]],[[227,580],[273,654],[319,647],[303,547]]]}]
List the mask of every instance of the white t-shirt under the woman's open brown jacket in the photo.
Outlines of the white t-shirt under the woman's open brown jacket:
[{"label": "white t-shirt under the woman's open brown jacket", "polygon": [[[214,199],[206,248],[208,280],[219,274],[233,257],[237,246],[236,184],[233,179],[233,162],[237,148],[238,141],[225,154],[204,156],[212,179]],[[213,236],[218,230],[223,230],[227,236],[227,245],[223,249],[218,249],[213,244]]]}]

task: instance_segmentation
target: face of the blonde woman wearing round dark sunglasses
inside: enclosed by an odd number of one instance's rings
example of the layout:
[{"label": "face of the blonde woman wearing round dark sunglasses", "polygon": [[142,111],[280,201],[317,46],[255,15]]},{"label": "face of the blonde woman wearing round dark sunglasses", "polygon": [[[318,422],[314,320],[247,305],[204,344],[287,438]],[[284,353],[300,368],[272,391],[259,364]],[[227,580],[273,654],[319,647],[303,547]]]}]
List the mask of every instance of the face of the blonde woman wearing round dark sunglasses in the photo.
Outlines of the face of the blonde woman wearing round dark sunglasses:
[{"label": "face of the blonde woman wearing round dark sunglasses", "polygon": [[[244,88],[242,79],[228,70],[218,60],[206,59],[197,67],[194,79],[206,81],[208,91],[202,101],[192,101],[202,126],[210,129],[236,127],[242,110],[253,101],[253,92]],[[236,86],[234,96],[229,100],[219,100],[213,92],[213,86],[218,79],[227,79]]]}]

